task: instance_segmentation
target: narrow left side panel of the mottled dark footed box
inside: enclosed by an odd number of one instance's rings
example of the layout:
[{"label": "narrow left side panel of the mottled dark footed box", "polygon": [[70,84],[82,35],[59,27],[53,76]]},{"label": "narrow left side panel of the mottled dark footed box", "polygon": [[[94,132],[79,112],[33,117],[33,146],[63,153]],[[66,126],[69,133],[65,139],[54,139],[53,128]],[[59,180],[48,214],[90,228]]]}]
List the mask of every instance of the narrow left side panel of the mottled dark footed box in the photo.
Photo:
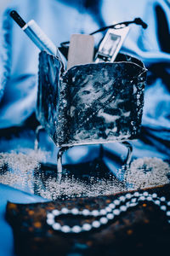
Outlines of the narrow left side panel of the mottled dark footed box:
[{"label": "narrow left side panel of the mottled dark footed box", "polygon": [[59,77],[62,63],[45,52],[40,54],[38,73],[37,119],[51,137],[59,112]]}]

